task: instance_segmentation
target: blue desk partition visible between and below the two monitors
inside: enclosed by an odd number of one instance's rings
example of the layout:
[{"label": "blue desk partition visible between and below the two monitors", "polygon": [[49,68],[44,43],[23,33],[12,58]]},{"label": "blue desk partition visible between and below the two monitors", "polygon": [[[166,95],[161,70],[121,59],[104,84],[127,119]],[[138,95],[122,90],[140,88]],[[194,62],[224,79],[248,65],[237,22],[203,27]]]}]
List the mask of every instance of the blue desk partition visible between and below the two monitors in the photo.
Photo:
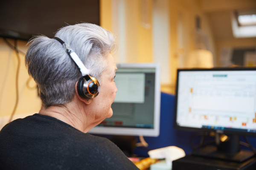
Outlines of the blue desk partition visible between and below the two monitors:
[{"label": "blue desk partition visible between and below the two monitors", "polygon": [[[177,130],[174,128],[175,96],[161,93],[161,117],[160,117],[160,135],[158,137],[144,137],[148,143],[148,148],[137,147],[134,153],[138,156],[148,157],[148,150],[167,146],[177,146],[182,148],[186,154],[192,152],[190,138],[196,132]],[[256,138],[248,137],[253,147],[256,147]],[[199,143],[199,139],[194,141]],[[244,148],[243,148],[244,149]]]}]

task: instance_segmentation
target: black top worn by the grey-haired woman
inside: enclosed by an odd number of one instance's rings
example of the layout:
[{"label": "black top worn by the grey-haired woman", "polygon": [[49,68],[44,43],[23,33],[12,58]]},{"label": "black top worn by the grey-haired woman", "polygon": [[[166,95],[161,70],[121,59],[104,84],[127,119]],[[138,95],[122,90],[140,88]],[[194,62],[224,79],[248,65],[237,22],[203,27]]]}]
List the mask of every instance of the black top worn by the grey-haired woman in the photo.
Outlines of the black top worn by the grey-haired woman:
[{"label": "black top worn by the grey-haired woman", "polygon": [[0,170],[138,170],[106,138],[34,114],[0,131]]}]

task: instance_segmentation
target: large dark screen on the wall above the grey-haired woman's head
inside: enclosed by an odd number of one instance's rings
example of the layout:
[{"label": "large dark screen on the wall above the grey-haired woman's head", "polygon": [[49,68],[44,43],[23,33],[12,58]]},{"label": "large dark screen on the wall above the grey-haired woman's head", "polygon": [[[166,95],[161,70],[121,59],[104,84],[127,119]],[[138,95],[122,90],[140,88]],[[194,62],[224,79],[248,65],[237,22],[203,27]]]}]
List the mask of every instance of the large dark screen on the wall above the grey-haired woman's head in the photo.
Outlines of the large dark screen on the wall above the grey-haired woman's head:
[{"label": "large dark screen on the wall above the grey-haired woman's head", "polygon": [[99,0],[3,0],[0,3],[0,36],[28,40],[32,35],[54,37],[76,23],[99,25]]}]

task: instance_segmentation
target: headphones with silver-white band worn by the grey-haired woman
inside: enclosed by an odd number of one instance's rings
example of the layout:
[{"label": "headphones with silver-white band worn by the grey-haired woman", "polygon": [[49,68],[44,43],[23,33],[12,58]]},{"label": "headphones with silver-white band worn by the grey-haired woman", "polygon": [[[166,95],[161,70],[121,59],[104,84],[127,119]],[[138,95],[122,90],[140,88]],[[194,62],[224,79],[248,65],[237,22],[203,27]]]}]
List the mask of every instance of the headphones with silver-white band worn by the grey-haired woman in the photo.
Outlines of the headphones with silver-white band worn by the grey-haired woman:
[{"label": "headphones with silver-white band worn by the grey-haired woman", "polygon": [[82,77],[77,83],[77,91],[79,96],[81,96],[83,99],[93,99],[94,97],[98,96],[100,89],[99,81],[89,75],[89,70],[84,66],[81,59],[68,44],[66,44],[58,37],[53,37],[53,39],[58,40],[58,42],[60,42],[65,47],[67,54],[76,63],[82,74]]}]

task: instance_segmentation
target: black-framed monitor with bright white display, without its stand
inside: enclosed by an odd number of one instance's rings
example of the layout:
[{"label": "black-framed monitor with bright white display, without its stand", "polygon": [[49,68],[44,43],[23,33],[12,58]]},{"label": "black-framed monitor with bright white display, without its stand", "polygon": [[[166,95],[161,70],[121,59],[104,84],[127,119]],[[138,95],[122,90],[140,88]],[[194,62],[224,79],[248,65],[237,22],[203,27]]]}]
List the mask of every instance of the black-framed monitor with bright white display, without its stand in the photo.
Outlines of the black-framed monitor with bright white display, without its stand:
[{"label": "black-framed monitor with bright white display, without its stand", "polygon": [[256,68],[178,69],[175,127],[256,136]]}]

